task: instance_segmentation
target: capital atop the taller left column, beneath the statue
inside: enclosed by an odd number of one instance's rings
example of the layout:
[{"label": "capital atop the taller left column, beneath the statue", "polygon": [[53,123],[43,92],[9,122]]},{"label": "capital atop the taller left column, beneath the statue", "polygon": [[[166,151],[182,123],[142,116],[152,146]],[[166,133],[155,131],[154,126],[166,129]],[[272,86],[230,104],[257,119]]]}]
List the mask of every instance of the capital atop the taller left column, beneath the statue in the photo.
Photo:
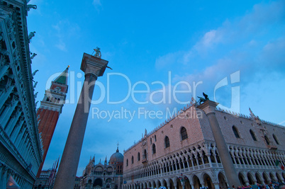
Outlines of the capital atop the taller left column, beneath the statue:
[{"label": "capital atop the taller left column, beneath the statue", "polygon": [[103,76],[108,61],[84,52],[80,69],[86,74],[93,74],[96,77]]}]

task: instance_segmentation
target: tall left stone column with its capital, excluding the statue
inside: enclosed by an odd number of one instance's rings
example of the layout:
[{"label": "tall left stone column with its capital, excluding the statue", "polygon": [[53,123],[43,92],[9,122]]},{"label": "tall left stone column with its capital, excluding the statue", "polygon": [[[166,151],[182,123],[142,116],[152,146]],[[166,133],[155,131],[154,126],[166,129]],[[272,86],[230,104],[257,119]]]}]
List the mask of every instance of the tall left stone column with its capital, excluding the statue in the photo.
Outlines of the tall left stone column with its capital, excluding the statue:
[{"label": "tall left stone column with its capital, excluding the statue", "polygon": [[60,161],[60,168],[55,179],[55,189],[74,188],[95,81],[98,76],[103,76],[107,64],[108,61],[99,57],[86,53],[83,55],[81,69],[85,73],[85,81]]}]

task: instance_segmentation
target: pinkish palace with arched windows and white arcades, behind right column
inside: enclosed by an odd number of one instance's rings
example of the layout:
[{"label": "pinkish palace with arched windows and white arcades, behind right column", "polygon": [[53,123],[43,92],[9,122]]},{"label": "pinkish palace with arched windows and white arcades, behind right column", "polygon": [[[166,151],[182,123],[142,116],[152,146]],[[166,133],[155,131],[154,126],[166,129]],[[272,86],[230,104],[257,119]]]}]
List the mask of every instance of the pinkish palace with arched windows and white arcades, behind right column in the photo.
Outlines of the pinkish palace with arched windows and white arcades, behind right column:
[{"label": "pinkish palace with arched windows and white arcades, behind right column", "polygon": [[[215,110],[241,185],[284,182],[285,127]],[[223,164],[205,113],[187,105],[124,153],[124,189],[227,188]],[[236,186],[237,187],[237,186]]]}]

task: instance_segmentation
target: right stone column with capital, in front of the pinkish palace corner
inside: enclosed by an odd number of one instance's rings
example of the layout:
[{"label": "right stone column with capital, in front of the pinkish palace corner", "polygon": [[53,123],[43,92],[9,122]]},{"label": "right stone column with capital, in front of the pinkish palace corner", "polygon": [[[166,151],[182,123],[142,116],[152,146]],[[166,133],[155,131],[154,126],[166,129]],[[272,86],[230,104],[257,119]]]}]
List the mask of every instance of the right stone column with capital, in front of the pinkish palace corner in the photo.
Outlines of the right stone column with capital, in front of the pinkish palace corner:
[{"label": "right stone column with capital, in front of the pinkish palace corner", "polygon": [[236,188],[240,185],[240,181],[238,179],[238,174],[235,171],[233,161],[230,158],[230,153],[228,151],[227,144],[225,143],[223,133],[220,130],[220,125],[218,124],[218,120],[216,118],[215,108],[217,105],[218,103],[208,100],[199,105],[198,108],[203,110],[208,117],[208,121],[213,132],[213,137],[216,141],[220,154],[220,161],[222,161],[223,168],[225,170],[225,176],[228,179],[228,184],[230,185],[230,188],[232,188],[233,185],[235,185]]}]

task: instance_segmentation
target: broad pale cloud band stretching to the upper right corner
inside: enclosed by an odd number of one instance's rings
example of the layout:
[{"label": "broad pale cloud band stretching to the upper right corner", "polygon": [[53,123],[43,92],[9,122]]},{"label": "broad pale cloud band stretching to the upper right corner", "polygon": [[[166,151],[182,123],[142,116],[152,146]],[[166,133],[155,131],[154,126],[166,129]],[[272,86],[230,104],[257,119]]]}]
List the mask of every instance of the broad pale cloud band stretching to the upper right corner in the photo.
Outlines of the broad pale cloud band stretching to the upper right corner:
[{"label": "broad pale cloud band stretching to the upper right corner", "polygon": [[[177,63],[188,64],[190,66],[190,63],[194,61],[195,64],[199,64],[200,62],[200,64],[205,64],[205,66],[210,65],[211,67],[213,63],[218,64],[220,59],[231,59],[234,67],[236,67],[236,64],[241,64],[242,67],[244,67],[245,63],[257,61],[257,57],[254,56],[260,54],[258,53],[260,51],[260,45],[264,46],[264,42],[266,43],[267,41],[268,44],[263,50],[264,56],[277,53],[279,57],[276,61],[282,62],[284,55],[279,51],[284,50],[285,44],[284,2],[285,1],[274,1],[269,4],[256,4],[252,10],[245,13],[244,16],[232,21],[227,19],[220,27],[204,33],[190,50],[184,52],[170,52],[167,55],[158,57],[155,62],[155,67],[157,69],[169,69],[169,67]],[[272,35],[272,30],[279,31],[281,37]],[[274,40],[276,37],[281,39]],[[237,53],[246,57],[251,56],[251,58],[249,59],[247,57],[246,62],[242,61],[242,57],[234,55]],[[220,54],[218,55],[220,57],[217,57],[217,54]],[[238,61],[232,59],[233,56],[238,58]],[[211,63],[203,63],[207,57],[211,59]],[[193,69],[193,66],[189,67],[189,69]],[[201,75],[205,76],[203,73],[201,73]],[[208,74],[206,74],[206,76],[208,76]]]}]

